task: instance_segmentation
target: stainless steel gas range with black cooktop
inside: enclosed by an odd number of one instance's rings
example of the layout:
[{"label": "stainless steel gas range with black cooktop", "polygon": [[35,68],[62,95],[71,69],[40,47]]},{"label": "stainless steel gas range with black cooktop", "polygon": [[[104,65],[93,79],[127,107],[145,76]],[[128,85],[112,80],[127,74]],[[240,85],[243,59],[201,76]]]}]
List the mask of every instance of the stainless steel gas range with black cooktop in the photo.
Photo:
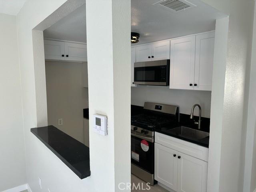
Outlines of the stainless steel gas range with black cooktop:
[{"label": "stainless steel gas range with black cooktop", "polygon": [[142,114],[131,117],[131,172],[154,185],[154,131],[178,121],[178,106],[144,103]]}]

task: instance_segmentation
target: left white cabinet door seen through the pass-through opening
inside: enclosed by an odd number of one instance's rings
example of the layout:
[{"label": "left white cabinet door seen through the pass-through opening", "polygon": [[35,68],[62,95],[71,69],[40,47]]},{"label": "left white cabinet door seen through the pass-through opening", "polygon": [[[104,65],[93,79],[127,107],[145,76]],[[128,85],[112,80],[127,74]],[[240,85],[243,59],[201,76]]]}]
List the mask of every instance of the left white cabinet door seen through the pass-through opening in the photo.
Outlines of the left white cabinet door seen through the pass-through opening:
[{"label": "left white cabinet door seen through the pass-through opening", "polygon": [[44,40],[44,58],[50,60],[65,60],[64,42]]}]

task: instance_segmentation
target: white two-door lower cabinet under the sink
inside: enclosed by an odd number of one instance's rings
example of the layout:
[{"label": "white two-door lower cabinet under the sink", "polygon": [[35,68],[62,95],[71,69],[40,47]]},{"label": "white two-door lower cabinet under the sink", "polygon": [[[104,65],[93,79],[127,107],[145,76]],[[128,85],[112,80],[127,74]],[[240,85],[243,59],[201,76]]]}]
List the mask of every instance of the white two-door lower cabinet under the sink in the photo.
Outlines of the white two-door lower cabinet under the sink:
[{"label": "white two-door lower cabinet under the sink", "polygon": [[191,148],[196,148],[197,145],[191,143],[189,146],[189,142],[183,140],[179,142],[176,138],[177,142],[175,142],[171,136],[166,136],[167,146],[168,143],[177,146],[172,149],[157,143],[158,138],[161,138],[162,135],[156,132],[155,180],[176,192],[206,192],[208,163],[178,151],[181,144],[185,151],[186,145],[188,151],[191,151]]}]

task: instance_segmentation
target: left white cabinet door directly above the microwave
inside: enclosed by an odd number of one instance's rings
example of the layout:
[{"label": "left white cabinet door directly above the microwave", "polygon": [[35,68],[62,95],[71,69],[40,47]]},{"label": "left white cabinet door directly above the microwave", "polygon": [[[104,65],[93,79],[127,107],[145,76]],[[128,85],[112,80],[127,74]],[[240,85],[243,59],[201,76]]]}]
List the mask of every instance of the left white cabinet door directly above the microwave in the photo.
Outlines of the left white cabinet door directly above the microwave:
[{"label": "left white cabinet door directly above the microwave", "polygon": [[136,62],[151,61],[152,44],[136,47]]}]

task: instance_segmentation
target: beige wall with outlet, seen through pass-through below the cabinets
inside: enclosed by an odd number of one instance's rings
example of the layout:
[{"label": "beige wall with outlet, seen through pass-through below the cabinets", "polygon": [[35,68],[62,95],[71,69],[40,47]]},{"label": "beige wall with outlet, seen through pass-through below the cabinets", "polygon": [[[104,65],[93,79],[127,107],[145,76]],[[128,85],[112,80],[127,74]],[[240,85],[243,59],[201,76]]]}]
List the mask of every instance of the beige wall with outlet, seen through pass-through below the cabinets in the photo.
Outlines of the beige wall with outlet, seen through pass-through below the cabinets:
[{"label": "beige wall with outlet, seen through pass-through below the cabinets", "polygon": [[[88,108],[88,88],[82,86],[82,63],[45,62],[48,125],[84,143],[83,109]],[[63,125],[58,125],[58,119]]]}]

